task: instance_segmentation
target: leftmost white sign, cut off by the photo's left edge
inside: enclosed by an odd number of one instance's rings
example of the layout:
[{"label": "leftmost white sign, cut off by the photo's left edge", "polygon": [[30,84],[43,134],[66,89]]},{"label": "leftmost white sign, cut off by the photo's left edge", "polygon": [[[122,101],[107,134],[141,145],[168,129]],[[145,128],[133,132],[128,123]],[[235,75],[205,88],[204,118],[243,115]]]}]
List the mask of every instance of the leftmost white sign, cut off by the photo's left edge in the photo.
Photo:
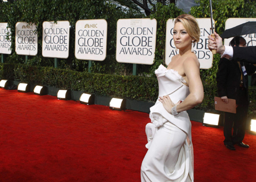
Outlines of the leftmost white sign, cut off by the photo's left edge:
[{"label": "leftmost white sign, cut off by the photo's left edge", "polygon": [[[9,32],[9,39],[7,39]],[[0,23],[0,53],[11,54],[11,30],[7,29],[7,23]]]}]

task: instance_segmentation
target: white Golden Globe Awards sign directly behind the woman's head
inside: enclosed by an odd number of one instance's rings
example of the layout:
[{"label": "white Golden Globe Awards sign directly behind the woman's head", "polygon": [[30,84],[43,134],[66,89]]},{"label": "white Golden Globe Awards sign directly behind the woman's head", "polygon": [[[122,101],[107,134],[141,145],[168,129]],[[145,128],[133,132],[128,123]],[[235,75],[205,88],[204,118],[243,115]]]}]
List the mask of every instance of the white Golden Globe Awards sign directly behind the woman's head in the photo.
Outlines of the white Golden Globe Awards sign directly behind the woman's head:
[{"label": "white Golden Globe Awards sign directly behind the woman's head", "polygon": [[[174,40],[172,38],[174,31],[174,20],[168,19],[166,25],[166,54],[165,63],[168,65],[171,62],[172,56],[175,56],[178,51],[175,51]],[[212,67],[213,54],[208,49],[208,35],[210,35],[210,18],[197,18],[200,27],[200,40],[194,44],[194,52],[199,59],[200,69],[209,69]]]}]

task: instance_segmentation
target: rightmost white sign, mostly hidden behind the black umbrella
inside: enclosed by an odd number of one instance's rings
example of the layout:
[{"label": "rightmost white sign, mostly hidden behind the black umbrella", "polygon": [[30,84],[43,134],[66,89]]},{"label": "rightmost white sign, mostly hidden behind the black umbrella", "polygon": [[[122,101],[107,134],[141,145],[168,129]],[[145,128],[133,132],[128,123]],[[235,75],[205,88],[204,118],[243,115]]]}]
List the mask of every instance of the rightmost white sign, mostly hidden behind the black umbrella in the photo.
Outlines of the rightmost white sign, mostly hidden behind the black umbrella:
[{"label": "rightmost white sign, mostly hidden behind the black umbrella", "polygon": [[[246,22],[255,22],[256,18],[229,18],[226,20],[225,23],[225,30],[229,28],[236,27],[242,23]],[[248,34],[248,35],[241,35],[243,38],[245,38],[247,46],[256,46],[256,34]],[[230,46],[230,41],[233,38],[224,39],[224,45]]]}]

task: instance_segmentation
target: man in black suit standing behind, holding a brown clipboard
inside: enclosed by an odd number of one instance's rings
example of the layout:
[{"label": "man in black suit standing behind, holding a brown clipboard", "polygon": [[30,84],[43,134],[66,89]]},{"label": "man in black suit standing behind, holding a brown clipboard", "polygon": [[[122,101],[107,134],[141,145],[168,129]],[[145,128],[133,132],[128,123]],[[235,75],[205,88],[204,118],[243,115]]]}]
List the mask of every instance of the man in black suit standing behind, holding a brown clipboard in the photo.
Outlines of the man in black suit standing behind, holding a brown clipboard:
[{"label": "man in black suit standing behind, holding a brown clipboard", "polygon": [[[246,40],[241,36],[237,36],[231,40],[230,44],[235,50],[237,47],[246,47]],[[236,150],[234,144],[249,148],[249,145],[244,144],[242,140],[245,137],[249,107],[248,75],[253,75],[255,71],[256,67],[253,64],[242,61],[229,61],[226,58],[221,58],[218,65],[216,77],[218,97],[221,97],[222,101],[226,104],[229,98],[235,99],[237,104],[236,114],[225,112],[224,116],[224,144],[230,150]]]}]

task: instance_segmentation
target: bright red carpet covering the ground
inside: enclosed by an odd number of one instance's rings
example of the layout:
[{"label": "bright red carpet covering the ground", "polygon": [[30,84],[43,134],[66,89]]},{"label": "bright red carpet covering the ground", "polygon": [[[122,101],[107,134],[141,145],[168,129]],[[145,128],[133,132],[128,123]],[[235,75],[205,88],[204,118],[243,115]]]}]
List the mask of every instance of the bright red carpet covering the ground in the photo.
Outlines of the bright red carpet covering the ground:
[{"label": "bright red carpet covering the ground", "polygon": [[[147,113],[0,89],[0,181],[140,181]],[[225,148],[223,129],[192,122],[195,181],[255,181],[249,149]]]}]

